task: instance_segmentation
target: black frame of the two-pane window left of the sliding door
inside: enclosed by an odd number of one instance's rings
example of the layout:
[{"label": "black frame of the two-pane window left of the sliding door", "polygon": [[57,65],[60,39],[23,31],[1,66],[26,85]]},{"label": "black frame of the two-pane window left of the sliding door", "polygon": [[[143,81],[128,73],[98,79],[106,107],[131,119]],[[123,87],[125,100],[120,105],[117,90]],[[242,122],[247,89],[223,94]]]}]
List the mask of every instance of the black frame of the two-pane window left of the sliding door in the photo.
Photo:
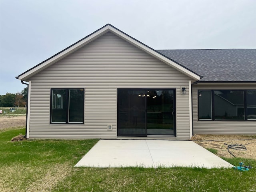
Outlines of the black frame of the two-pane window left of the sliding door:
[{"label": "black frame of the two-pane window left of the sliding door", "polygon": [[[52,91],[53,90],[66,90],[66,122],[52,122]],[[82,122],[68,122],[69,114],[69,90],[83,90],[85,102],[85,88],[51,88],[50,89],[50,124],[84,124],[84,110],[83,110],[83,121]],[[63,105],[63,104],[62,104]],[[63,107],[63,106],[62,106]]]}]

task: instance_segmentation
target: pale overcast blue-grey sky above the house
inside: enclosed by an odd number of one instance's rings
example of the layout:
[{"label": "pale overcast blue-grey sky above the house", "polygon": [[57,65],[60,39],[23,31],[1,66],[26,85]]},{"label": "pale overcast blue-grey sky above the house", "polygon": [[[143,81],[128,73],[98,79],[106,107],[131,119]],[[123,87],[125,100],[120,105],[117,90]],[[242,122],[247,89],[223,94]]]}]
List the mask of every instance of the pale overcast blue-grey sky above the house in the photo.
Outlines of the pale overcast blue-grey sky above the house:
[{"label": "pale overcast blue-grey sky above the house", "polygon": [[110,23],[158,49],[256,48],[256,0],[0,0],[0,95]]}]

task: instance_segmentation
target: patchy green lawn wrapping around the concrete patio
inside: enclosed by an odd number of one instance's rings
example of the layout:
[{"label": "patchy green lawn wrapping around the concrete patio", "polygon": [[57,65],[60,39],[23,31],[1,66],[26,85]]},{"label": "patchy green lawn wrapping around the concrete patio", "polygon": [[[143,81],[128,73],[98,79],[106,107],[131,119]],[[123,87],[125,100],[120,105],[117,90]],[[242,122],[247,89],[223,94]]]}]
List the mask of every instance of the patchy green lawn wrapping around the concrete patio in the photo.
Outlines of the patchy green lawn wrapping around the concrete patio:
[{"label": "patchy green lawn wrapping around the concrete patio", "polygon": [[[98,140],[26,140],[10,142],[22,133],[0,130],[1,192],[168,192],[256,190],[256,170],[206,168],[74,168]],[[255,160],[225,159],[231,164]]]}]

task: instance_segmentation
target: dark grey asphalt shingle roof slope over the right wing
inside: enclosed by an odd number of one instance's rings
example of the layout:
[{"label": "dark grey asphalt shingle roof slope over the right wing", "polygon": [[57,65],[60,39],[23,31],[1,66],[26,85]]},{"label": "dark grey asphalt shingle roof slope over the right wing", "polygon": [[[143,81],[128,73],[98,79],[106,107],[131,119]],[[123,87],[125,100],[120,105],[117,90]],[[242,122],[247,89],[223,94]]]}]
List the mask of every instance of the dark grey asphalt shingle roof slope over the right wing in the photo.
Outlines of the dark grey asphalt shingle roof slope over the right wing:
[{"label": "dark grey asphalt shingle roof slope over the right wing", "polygon": [[156,51],[204,76],[200,81],[256,82],[256,49]]}]

